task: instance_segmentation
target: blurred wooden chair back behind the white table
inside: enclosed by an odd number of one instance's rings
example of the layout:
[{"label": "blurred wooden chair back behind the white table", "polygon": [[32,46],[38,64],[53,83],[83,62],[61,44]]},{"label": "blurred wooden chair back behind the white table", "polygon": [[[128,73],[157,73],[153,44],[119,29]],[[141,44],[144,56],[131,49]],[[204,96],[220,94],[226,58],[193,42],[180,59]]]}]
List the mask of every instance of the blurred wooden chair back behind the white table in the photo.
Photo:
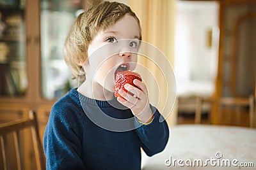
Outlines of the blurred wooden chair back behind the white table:
[{"label": "blurred wooden chair back behind the white table", "polygon": [[[239,115],[236,111],[237,107],[248,107],[249,108],[249,126],[255,127],[255,97],[221,97],[218,99],[208,98],[204,99],[202,97],[198,97],[196,101],[196,111],[195,111],[195,123],[200,124],[201,115],[202,115],[202,106],[203,104],[208,103],[212,107],[216,107],[216,111],[214,115],[212,115],[212,124],[219,124],[218,120],[220,120],[221,108],[229,107],[233,108],[236,119],[239,119]],[[238,121],[237,121],[238,122]]]}]

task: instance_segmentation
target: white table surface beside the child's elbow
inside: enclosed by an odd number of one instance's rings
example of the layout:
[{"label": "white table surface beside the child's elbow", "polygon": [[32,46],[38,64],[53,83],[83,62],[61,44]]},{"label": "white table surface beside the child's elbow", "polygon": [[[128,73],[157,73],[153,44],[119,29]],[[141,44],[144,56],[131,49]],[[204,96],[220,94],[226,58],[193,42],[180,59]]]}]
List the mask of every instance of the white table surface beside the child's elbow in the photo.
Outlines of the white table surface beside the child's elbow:
[{"label": "white table surface beside the child's elbow", "polygon": [[[216,153],[218,153],[217,156]],[[253,167],[239,167],[243,162],[247,166],[253,164]],[[189,164],[191,166],[188,166]],[[206,164],[207,166],[204,166]],[[177,125],[170,128],[170,138],[163,152],[152,157],[142,153],[141,167],[154,170],[256,169],[256,129],[234,126]]]}]

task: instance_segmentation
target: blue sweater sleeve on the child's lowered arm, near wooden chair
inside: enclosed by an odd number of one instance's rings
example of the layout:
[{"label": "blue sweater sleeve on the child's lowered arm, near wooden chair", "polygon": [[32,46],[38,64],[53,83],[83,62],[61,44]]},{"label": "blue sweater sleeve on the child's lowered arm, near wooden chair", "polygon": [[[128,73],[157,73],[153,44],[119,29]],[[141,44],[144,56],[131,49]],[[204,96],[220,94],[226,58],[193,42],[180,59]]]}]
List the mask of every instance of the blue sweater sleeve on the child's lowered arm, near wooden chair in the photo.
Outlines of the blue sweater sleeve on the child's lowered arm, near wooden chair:
[{"label": "blue sweater sleeve on the child's lowered arm, near wooden chair", "polygon": [[84,169],[79,124],[73,113],[56,107],[51,111],[44,134],[46,169]]}]

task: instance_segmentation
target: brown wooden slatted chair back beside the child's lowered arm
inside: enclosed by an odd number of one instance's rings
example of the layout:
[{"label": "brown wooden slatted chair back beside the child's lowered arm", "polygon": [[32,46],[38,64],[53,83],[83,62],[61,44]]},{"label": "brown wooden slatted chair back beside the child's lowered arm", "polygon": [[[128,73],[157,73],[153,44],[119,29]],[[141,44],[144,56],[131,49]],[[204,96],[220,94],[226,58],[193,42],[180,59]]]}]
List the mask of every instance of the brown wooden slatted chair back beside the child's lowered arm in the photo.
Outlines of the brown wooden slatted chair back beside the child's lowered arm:
[{"label": "brown wooden slatted chair back beside the child's lowered arm", "polygon": [[[15,120],[13,122],[7,122],[4,124],[0,124],[0,141],[1,141],[1,156],[3,160],[3,169],[7,170],[10,169],[10,162],[8,162],[8,155],[7,151],[7,136],[9,134],[13,135],[13,148],[15,149],[15,155],[11,157],[16,157],[17,162],[17,169],[24,169],[24,160],[22,157],[22,141],[20,139],[20,132],[24,129],[31,130],[32,136],[32,143],[33,143],[33,151],[35,154],[35,162],[36,162],[36,169],[45,169],[44,164],[44,153],[42,150],[42,145],[40,142],[40,137],[38,133],[38,124],[36,121],[36,114],[34,111],[29,111],[29,118],[23,118],[20,120]],[[10,144],[10,141],[8,141]],[[9,152],[10,153],[10,152]],[[1,169],[1,167],[0,167]]]}]

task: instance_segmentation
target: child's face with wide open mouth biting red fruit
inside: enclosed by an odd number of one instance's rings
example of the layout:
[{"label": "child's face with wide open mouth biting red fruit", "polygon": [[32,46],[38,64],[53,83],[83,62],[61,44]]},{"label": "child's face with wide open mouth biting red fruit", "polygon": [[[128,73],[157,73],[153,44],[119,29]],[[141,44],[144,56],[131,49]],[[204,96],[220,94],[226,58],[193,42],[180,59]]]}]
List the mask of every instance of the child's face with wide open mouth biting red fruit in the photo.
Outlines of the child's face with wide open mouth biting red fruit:
[{"label": "child's face with wide open mouth biting red fruit", "polygon": [[138,22],[131,15],[100,31],[88,46],[88,64],[84,65],[86,80],[90,77],[92,83],[113,92],[116,73],[136,66],[139,37]]}]

